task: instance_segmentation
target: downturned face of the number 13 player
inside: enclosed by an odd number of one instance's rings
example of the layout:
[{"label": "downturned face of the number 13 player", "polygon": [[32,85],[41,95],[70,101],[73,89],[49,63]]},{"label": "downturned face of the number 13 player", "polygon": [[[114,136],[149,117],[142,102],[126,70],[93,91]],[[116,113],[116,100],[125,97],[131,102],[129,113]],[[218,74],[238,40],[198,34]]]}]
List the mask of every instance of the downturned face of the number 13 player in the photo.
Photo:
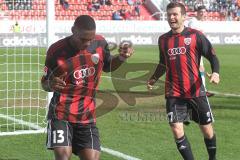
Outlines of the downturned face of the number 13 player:
[{"label": "downturned face of the number 13 player", "polygon": [[95,38],[95,30],[74,30],[72,35],[72,42],[76,49],[86,49]]}]

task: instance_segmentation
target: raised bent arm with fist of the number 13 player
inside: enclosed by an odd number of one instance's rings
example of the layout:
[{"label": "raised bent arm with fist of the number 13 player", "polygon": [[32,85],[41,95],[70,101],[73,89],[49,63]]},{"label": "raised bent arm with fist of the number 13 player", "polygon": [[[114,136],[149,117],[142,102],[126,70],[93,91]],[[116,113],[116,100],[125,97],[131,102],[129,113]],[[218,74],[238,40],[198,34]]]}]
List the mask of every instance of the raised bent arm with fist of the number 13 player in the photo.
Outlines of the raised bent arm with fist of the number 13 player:
[{"label": "raised bent arm with fist of the number 13 player", "polygon": [[134,49],[132,48],[132,44],[130,42],[121,43],[118,49],[118,55],[112,56],[110,54],[110,50],[108,48],[108,44],[105,47],[105,58],[104,58],[104,72],[112,72],[115,71],[118,67],[121,66],[125,62],[125,60],[132,56],[134,53]]}]

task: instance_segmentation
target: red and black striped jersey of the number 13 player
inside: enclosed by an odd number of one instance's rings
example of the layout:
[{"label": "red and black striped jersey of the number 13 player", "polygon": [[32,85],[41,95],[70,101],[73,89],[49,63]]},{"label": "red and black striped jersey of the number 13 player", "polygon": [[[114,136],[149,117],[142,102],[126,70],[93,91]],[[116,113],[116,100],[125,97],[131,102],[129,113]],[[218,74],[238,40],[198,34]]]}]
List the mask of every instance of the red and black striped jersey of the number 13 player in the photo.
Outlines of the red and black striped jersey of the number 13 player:
[{"label": "red and black striped jersey of the number 13 player", "polygon": [[70,37],[52,44],[47,51],[45,79],[51,74],[67,73],[65,89],[54,92],[49,104],[48,119],[57,118],[72,123],[96,123],[95,94],[102,70],[109,70],[111,55],[106,40],[96,35],[90,46],[77,51]]}]

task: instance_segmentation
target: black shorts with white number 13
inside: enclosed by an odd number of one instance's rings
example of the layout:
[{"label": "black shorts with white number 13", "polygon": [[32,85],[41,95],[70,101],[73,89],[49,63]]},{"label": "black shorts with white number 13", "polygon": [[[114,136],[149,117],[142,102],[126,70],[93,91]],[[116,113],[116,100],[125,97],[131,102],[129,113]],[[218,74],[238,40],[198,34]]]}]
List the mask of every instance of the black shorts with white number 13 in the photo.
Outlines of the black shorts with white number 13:
[{"label": "black shorts with white number 13", "polygon": [[62,120],[49,120],[47,126],[48,149],[72,146],[72,152],[78,155],[82,149],[100,151],[98,129],[95,124],[80,125]]}]

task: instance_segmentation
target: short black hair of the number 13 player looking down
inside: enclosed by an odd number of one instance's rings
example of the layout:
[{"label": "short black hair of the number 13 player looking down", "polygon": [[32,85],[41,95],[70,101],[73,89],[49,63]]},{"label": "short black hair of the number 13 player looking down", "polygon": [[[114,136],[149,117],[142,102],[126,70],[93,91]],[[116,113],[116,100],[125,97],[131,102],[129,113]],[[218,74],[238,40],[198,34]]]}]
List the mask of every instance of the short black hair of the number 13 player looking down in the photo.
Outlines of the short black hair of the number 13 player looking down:
[{"label": "short black hair of the number 13 player looking down", "polygon": [[96,29],[96,23],[94,19],[89,15],[78,16],[74,21],[74,26],[79,29],[85,29],[85,30]]}]

